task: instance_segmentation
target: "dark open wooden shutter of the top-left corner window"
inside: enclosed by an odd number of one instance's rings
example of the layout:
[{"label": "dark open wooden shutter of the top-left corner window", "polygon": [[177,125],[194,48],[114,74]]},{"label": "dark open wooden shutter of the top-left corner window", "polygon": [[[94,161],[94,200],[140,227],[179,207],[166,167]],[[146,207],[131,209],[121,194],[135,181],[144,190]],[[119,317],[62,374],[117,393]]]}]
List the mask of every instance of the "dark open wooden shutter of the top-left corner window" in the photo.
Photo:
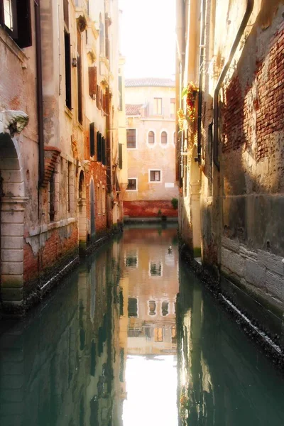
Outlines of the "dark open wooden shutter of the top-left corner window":
[{"label": "dark open wooden shutter of the top-left corner window", "polygon": [[28,48],[32,45],[31,36],[31,1],[16,0],[18,34],[13,38],[18,47]]}]

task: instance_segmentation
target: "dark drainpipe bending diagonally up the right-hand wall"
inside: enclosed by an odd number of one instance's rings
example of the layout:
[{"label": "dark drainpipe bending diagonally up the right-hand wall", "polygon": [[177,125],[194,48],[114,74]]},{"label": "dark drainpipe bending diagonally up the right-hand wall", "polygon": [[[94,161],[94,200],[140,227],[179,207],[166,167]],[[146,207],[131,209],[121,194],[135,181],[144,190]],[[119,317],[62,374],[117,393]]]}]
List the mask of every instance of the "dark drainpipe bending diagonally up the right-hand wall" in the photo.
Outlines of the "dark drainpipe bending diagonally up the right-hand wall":
[{"label": "dark drainpipe bending diagonally up the right-hand wall", "polygon": [[224,78],[226,77],[226,73],[229,70],[229,66],[231,65],[231,60],[234,57],[236,52],[236,48],[239,45],[241,40],[241,35],[243,35],[246,25],[251,16],[251,12],[253,11],[253,3],[254,0],[247,0],[246,4],[246,12],[244,13],[244,18],[241,21],[241,25],[239,27],[239,31],[236,33],[236,38],[234,40],[233,45],[231,46],[231,52],[229,54],[229,58],[224,65],[224,68],[221,72],[219,80],[217,82],[217,86],[214,92],[214,134],[213,134],[213,161],[214,165],[216,165],[218,171],[220,171],[220,163],[219,163],[219,155],[218,155],[218,143],[219,143],[219,92],[224,82]]}]

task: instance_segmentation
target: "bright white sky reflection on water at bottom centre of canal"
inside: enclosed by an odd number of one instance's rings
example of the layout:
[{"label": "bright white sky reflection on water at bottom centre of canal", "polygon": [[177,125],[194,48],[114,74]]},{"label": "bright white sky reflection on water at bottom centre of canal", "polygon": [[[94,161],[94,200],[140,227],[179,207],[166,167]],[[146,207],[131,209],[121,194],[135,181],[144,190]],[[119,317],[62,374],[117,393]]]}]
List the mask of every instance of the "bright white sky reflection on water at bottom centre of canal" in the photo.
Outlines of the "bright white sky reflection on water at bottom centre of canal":
[{"label": "bright white sky reflection on water at bottom centre of canal", "polygon": [[178,425],[176,357],[128,356],[123,426]]}]

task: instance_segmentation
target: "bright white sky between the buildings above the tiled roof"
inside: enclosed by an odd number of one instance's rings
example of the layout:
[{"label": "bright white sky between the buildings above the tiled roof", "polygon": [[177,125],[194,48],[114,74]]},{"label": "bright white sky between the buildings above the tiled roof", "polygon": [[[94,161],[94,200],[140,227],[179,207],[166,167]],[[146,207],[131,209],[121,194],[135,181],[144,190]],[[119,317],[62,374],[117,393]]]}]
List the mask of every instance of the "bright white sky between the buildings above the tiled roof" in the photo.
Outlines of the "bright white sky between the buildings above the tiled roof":
[{"label": "bright white sky between the buildings above the tiled roof", "polygon": [[175,0],[119,0],[125,77],[175,74]]}]

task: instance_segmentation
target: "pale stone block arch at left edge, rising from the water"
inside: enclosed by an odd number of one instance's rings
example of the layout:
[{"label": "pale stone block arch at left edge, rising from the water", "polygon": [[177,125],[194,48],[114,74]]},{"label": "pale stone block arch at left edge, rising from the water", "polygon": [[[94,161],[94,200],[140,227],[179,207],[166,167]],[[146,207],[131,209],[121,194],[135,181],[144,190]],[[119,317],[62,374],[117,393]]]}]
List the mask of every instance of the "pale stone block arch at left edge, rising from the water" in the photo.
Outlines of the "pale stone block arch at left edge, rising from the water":
[{"label": "pale stone block arch at left edge, rising from the water", "polygon": [[16,138],[0,133],[1,300],[23,301],[23,222],[26,208],[21,154]]}]

